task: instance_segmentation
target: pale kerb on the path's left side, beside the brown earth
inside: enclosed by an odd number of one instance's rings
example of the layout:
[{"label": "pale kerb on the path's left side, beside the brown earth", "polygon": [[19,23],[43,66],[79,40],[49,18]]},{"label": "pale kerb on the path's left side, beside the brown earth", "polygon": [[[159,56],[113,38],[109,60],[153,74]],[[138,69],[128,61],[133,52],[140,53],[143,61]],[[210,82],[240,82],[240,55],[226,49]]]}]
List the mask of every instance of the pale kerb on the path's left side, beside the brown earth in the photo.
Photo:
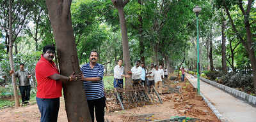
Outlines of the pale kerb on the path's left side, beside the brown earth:
[{"label": "pale kerb on the path's left side, beside the brown earth", "polygon": [[[191,81],[189,81],[189,83],[191,85],[193,85],[193,83],[191,83]],[[197,88],[197,86],[194,86],[194,85],[193,85],[193,87]],[[201,92],[200,92],[200,95],[204,98],[204,102],[207,104],[208,107],[210,107],[211,111],[214,112],[215,116],[217,116],[217,118],[220,119],[221,122],[227,122],[227,119],[225,119],[221,115],[221,113],[216,109],[216,107],[214,107],[214,105],[212,105],[212,103],[206,97],[204,97],[204,95]]]}]

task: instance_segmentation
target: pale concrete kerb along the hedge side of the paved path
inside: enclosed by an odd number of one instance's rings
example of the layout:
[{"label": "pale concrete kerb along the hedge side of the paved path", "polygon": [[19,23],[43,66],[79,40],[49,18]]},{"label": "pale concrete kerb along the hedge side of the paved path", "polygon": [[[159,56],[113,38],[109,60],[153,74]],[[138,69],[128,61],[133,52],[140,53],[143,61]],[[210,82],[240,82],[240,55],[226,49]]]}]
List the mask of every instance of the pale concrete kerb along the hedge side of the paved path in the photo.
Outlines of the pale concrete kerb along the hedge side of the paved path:
[{"label": "pale concrete kerb along the hedge side of the paved path", "polygon": [[230,88],[228,86],[225,85],[221,85],[220,83],[216,83],[214,81],[211,81],[209,79],[206,78],[202,78],[200,77],[200,79],[206,83],[209,83],[212,86],[216,86],[217,88],[220,88],[221,90],[229,93],[230,95],[236,97],[236,98],[240,98],[241,100],[244,100],[245,102],[248,102],[249,104],[255,106],[256,105],[256,97],[249,95],[248,93],[244,93],[241,92],[239,90],[236,90],[234,88]]}]

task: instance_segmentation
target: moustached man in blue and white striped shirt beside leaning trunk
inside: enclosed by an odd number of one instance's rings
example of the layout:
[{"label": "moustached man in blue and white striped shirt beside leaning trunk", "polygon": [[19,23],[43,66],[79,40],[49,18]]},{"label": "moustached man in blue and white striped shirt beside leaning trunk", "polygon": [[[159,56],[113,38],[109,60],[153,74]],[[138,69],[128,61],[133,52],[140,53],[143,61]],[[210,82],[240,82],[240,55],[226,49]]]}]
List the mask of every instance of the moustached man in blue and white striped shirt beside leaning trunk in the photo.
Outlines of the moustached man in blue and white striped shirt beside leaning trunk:
[{"label": "moustached man in blue and white striped shirt beside leaning trunk", "polygon": [[104,67],[102,64],[98,64],[97,60],[99,53],[97,51],[91,51],[90,63],[84,64],[81,67],[83,77],[81,78],[84,85],[84,91],[88,102],[88,107],[94,121],[94,111],[96,120],[104,121],[104,107],[106,106],[106,97],[104,95],[103,74]]}]

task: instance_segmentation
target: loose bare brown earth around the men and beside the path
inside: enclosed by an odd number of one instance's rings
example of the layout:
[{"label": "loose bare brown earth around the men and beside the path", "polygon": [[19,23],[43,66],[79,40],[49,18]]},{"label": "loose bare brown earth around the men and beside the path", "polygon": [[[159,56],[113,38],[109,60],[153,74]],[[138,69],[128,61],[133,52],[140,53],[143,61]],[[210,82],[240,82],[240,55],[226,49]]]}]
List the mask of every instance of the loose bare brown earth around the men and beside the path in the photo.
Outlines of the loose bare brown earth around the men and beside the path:
[{"label": "loose bare brown earth around the men and beside the path", "polygon": [[[105,118],[108,121],[127,121],[131,116],[138,116],[144,114],[154,114],[150,119],[160,120],[160,119],[170,119],[172,116],[186,116],[189,118],[198,118],[200,121],[219,121],[214,113],[207,107],[202,100],[202,97],[195,97],[196,92],[194,92],[193,86],[188,82],[182,83],[172,83],[172,81],[167,81],[167,85],[176,87],[181,86],[181,93],[169,93],[161,95],[163,99],[163,104],[152,104],[145,105],[143,107],[136,107],[133,109],[128,109],[125,111],[115,111],[106,112]],[[67,115],[65,112],[65,102],[63,97],[61,97],[61,105],[58,116],[58,121],[67,121]],[[31,105],[24,107],[9,107],[0,110],[0,121],[4,122],[35,122],[40,121],[40,112],[35,102]]]}]

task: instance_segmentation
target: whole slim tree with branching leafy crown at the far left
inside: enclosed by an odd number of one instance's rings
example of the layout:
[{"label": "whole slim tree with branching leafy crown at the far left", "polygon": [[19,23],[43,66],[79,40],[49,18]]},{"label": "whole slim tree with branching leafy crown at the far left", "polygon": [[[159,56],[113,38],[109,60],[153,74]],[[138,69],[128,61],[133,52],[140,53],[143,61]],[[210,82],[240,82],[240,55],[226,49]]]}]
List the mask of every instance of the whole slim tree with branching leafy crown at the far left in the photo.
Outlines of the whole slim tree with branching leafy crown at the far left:
[{"label": "whole slim tree with branching leafy crown at the far left", "polygon": [[[35,1],[28,0],[28,1],[0,1],[1,9],[0,9],[0,27],[6,32],[6,45],[7,52],[9,53],[9,61],[11,69],[14,71],[14,64],[13,64],[13,45],[19,37],[20,32],[24,29],[24,25],[28,24],[28,14],[31,11],[31,7],[35,4]],[[10,35],[12,34],[12,35]],[[17,47],[15,47],[17,48]],[[6,52],[6,53],[7,53]],[[15,76],[12,76],[13,85],[15,85]],[[14,88],[15,87],[15,88]],[[16,86],[13,86],[14,92]],[[18,100],[19,98],[15,98]],[[16,105],[17,104],[16,102]]]}]

